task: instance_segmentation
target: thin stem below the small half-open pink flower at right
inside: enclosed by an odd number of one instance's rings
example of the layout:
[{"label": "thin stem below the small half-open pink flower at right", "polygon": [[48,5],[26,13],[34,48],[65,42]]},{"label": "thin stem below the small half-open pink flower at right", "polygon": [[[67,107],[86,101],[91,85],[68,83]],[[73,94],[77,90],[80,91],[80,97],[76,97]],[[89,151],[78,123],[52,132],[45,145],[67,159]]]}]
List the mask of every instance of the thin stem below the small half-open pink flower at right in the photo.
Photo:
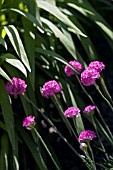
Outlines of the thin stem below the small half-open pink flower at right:
[{"label": "thin stem below the small half-open pink flower at right", "polygon": [[94,126],[94,128],[95,128],[96,134],[97,134],[97,136],[98,136],[100,145],[101,145],[101,147],[102,147],[102,149],[103,149],[103,152],[105,153],[105,156],[106,156],[107,160],[109,161],[109,157],[108,157],[107,152],[106,152],[106,150],[105,150],[105,148],[104,148],[104,145],[103,145],[103,143],[102,143],[102,141],[101,141],[101,139],[100,139],[100,135],[99,135],[99,133],[98,133],[97,126],[96,126],[96,123],[95,123],[95,120],[94,120],[93,115],[91,115],[91,120],[92,120],[93,126]]}]

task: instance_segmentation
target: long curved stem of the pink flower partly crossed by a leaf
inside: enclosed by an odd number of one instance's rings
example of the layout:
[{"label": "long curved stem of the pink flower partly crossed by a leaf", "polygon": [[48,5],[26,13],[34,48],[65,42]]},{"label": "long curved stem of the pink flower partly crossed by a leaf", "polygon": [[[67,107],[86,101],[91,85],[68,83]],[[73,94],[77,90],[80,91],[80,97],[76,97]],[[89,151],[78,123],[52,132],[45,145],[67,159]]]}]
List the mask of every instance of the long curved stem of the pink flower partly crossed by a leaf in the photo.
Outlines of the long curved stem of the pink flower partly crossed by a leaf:
[{"label": "long curved stem of the pink flower partly crossed by a leaf", "polygon": [[[75,75],[76,75],[76,74],[75,74]],[[84,93],[88,96],[88,98],[91,100],[91,102],[96,106],[96,104],[95,104],[93,98],[88,94],[88,92],[85,90],[84,86],[81,84],[78,75],[76,75],[76,78],[77,78],[77,80],[78,80],[78,82],[79,82],[79,84],[80,84],[82,90],[84,91]],[[104,124],[104,126],[105,126],[105,128],[106,128],[106,130],[107,130],[107,132],[108,132],[108,134],[109,134],[109,136],[110,136],[111,139],[113,140],[113,135],[112,135],[112,133],[111,133],[111,131],[110,131],[108,125],[106,124],[104,118],[102,117],[102,115],[101,115],[101,113],[100,113],[100,110],[98,109],[97,106],[96,106],[96,110],[97,110],[97,113],[98,113],[99,117],[101,118],[101,120],[102,120],[102,122],[103,122],[103,124]]]}]

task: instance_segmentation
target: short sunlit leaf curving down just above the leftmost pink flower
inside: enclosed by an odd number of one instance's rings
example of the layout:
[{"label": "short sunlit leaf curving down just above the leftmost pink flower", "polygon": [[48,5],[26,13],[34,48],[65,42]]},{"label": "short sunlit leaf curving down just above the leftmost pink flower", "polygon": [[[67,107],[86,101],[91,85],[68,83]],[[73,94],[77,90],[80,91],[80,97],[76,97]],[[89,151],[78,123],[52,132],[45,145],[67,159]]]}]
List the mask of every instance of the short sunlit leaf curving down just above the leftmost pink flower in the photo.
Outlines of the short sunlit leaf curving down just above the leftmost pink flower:
[{"label": "short sunlit leaf curving down just above the leftmost pink flower", "polygon": [[24,65],[18,59],[16,59],[14,55],[4,54],[0,56],[0,58],[4,59],[7,63],[11,64],[12,66],[18,68],[27,77],[27,71]]}]

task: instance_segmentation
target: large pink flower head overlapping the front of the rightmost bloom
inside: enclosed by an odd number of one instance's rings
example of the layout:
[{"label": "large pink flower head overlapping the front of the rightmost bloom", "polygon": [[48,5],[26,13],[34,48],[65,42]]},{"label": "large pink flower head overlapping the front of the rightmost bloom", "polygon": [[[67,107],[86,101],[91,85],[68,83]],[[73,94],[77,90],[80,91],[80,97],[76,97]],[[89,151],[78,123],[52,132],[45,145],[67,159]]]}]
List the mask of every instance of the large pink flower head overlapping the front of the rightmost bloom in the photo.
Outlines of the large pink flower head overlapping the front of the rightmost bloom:
[{"label": "large pink flower head overlapping the front of the rightmost bloom", "polygon": [[97,78],[100,78],[100,73],[93,68],[87,68],[81,73],[81,82],[84,86],[95,84]]}]

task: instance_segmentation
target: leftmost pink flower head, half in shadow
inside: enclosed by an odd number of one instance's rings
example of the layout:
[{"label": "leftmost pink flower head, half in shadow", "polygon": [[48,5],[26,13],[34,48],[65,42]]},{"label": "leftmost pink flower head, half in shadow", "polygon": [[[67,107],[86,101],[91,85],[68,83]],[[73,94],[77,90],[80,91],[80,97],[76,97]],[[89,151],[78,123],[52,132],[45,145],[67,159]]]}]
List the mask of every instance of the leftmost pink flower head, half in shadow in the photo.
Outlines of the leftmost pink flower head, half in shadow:
[{"label": "leftmost pink flower head, half in shadow", "polygon": [[12,83],[7,82],[6,83],[6,90],[11,95],[18,95],[22,94],[26,91],[27,85],[25,84],[25,81],[20,78],[12,78]]}]

